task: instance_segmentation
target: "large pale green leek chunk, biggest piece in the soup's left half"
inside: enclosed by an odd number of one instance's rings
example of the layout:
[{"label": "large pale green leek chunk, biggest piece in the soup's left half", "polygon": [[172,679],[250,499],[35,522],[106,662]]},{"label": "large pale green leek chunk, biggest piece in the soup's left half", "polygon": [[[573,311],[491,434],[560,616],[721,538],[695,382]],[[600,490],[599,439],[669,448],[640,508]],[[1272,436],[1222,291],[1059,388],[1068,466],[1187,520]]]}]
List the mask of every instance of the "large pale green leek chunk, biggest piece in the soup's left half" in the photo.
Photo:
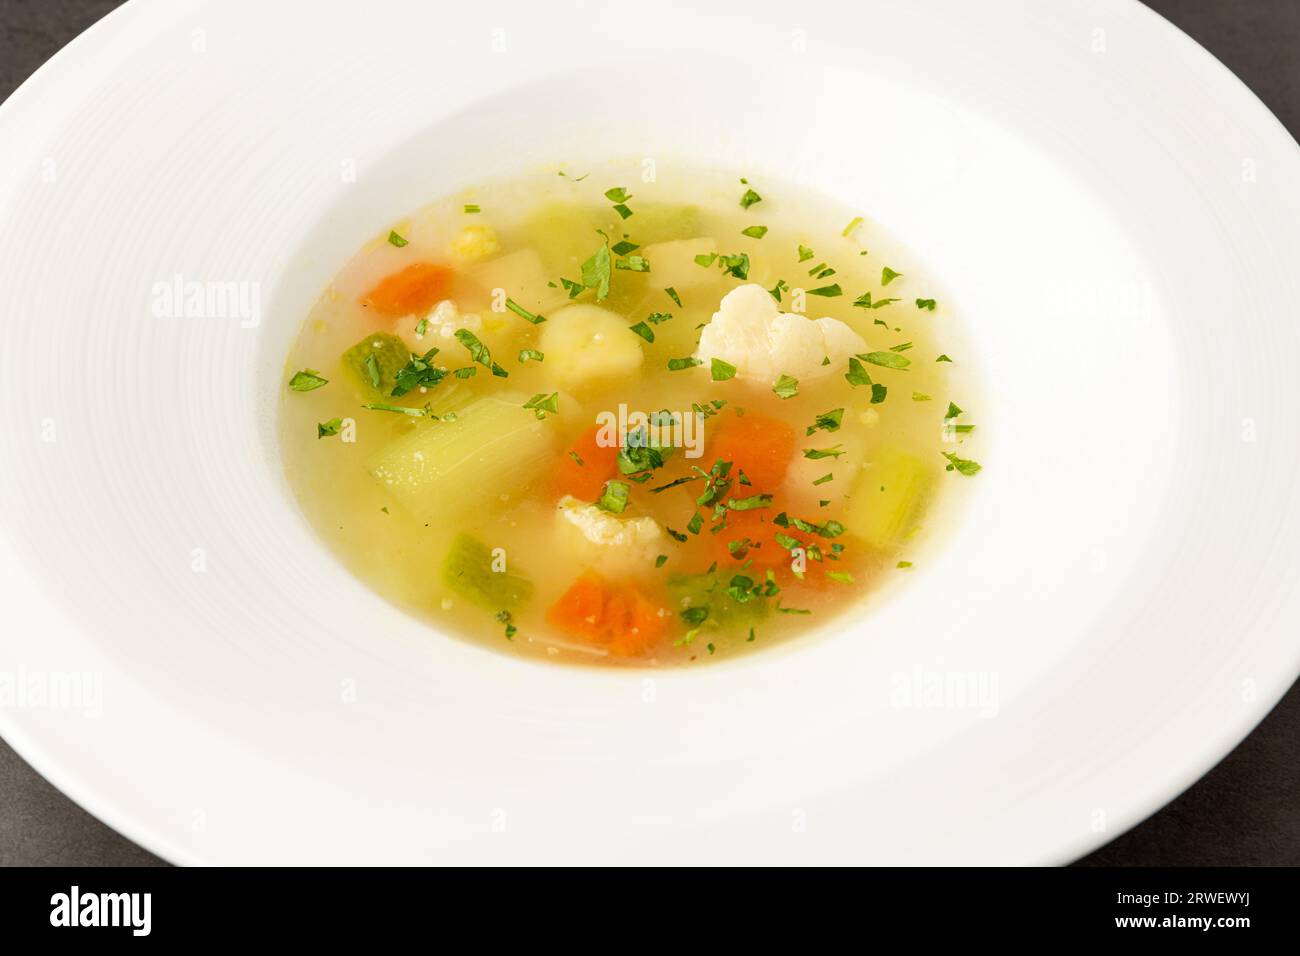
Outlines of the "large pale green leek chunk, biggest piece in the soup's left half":
[{"label": "large pale green leek chunk, biggest piece in the soup's left half", "polygon": [[546,472],[552,432],[524,408],[525,395],[480,398],[398,438],[368,463],[370,475],[424,520],[465,514],[516,496]]}]

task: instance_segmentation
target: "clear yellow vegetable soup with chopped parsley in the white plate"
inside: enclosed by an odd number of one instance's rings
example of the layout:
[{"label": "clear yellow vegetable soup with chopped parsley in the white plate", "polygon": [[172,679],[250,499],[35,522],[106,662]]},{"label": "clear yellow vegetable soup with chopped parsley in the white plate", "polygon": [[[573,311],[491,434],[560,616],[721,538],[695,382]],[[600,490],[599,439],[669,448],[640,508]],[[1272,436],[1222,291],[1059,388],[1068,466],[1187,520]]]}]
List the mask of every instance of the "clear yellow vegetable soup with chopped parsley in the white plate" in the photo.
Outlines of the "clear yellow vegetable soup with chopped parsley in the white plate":
[{"label": "clear yellow vegetable soup with chopped parsley in the white plate", "polygon": [[956,334],[855,211],[702,170],[547,170],[436,202],[343,268],[287,358],[283,459],[338,557],[439,630],[722,659],[920,570],[980,468]]}]

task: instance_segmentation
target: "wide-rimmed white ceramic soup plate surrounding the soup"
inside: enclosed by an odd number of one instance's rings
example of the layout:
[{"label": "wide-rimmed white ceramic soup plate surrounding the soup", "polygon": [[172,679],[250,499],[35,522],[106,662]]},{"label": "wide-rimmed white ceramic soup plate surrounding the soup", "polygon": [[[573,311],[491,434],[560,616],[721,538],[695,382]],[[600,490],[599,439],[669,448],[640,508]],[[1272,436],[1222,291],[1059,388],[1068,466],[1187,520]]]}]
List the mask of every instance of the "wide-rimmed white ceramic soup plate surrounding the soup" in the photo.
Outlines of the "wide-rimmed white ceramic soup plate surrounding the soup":
[{"label": "wide-rimmed white ceramic soup plate surrounding the soup", "polygon": [[[339,264],[610,156],[831,193],[963,315],[978,493],[852,628],[514,661],[289,498],[282,355]],[[1130,0],[133,0],[0,108],[0,675],[101,688],[0,732],[169,860],[1062,862],[1300,670],[1300,150]],[[176,276],[259,321],[157,317]]]}]

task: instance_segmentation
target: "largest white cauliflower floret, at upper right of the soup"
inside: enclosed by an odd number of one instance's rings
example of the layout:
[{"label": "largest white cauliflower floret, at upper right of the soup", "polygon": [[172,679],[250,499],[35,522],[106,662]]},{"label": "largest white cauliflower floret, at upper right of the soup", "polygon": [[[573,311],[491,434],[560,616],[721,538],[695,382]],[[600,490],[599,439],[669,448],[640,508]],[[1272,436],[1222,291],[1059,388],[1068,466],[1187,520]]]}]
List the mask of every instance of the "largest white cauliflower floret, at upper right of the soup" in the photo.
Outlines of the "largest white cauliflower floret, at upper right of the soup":
[{"label": "largest white cauliflower floret, at upper right of the soup", "polygon": [[[722,359],[745,378],[770,382],[781,375],[812,378],[842,369],[850,355],[866,349],[862,336],[838,319],[783,312],[763,286],[751,282],[723,297],[699,334],[696,358]],[[827,358],[829,365],[823,364]]]}]

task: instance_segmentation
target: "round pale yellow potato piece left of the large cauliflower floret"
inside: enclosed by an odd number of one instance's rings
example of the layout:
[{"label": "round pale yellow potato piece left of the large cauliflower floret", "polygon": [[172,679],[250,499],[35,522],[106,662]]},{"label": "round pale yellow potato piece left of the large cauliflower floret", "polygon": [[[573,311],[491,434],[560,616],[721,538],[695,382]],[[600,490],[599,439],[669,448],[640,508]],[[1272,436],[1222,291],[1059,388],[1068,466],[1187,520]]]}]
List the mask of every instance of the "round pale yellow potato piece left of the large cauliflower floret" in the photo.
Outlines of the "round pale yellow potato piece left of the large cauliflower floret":
[{"label": "round pale yellow potato piece left of the large cauliflower floret", "polygon": [[641,339],[628,333],[627,320],[599,306],[567,306],[541,329],[546,369],[566,388],[618,381],[641,367]]}]

